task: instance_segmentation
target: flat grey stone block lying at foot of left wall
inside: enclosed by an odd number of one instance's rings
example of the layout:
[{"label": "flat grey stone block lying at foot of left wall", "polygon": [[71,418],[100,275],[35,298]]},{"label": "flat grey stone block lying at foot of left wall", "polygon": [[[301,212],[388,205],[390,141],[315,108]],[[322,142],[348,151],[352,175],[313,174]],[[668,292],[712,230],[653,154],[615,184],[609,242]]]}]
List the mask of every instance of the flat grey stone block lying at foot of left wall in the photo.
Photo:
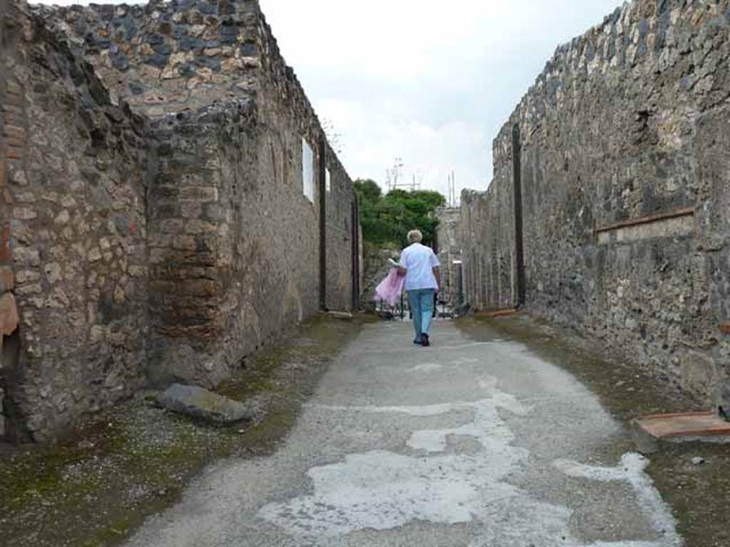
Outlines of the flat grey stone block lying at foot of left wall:
[{"label": "flat grey stone block lying at foot of left wall", "polygon": [[157,396],[157,402],[170,411],[215,424],[233,424],[256,416],[252,405],[216,395],[202,387],[183,384],[172,384]]}]

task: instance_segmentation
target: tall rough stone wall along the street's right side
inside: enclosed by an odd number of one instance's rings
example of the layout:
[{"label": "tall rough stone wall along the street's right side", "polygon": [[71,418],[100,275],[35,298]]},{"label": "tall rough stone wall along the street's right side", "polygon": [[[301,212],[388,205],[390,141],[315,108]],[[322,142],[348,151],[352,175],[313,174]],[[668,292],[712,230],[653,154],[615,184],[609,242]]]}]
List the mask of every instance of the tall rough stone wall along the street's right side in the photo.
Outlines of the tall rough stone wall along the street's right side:
[{"label": "tall rough stone wall along the street's right side", "polygon": [[727,0],[637,0],[558,48],[494,142],[491,187],[462,196],[473,308],[518,303],[517,158],[526,308],[715,397],[730,376],[729,28]]}]

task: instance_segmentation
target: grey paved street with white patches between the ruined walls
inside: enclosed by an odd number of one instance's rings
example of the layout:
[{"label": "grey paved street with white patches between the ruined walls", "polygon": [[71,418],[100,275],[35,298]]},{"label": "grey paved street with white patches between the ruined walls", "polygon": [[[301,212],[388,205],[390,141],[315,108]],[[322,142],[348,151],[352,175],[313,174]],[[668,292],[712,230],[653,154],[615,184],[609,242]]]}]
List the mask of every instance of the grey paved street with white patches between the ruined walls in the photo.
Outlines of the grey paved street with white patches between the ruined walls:
[{"label": "grey paved street with white patches between the ruined walls", "polygon": [[671,547],[626,432],[513,341],[368,325],[272,457],[207,470],[128,546]]}]

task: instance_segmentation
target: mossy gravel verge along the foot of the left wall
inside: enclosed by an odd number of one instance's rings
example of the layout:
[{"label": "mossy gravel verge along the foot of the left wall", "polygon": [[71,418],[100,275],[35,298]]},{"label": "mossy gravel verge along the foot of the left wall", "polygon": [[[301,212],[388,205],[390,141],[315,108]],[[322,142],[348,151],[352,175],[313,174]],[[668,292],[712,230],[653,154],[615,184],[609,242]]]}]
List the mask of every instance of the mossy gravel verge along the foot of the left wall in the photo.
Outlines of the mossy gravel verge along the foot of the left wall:
[{"label": "mossy gravel verge along the foot of the left wall", "polygon": [[271,453],[328,362],[361,322],[318,317],[288,346],[259,354],[219,391],[258,398],[255,422],[212,427],[153,406],[143,392],[79,424],[55,446],[0,451],[0,529],[7,547],[111,546],[177,501],[200,471],[224,457]]}]

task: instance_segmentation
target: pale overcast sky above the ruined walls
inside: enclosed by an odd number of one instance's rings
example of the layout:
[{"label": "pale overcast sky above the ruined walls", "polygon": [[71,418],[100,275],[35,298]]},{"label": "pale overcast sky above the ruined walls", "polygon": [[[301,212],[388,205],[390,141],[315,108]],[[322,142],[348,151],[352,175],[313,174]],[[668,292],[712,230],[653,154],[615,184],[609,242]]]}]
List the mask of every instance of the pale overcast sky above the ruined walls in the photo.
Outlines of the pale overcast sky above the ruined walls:
[{"label": "pale overcast sky above the ruined walls", "polygon": [[[353,178],[485,190],[492,139],[559,44],[621,0],[260,0]],[[47,2],[47,3],[59,3]],[[61,3],[85,3],[65,0]],[[119,2],[115,2],[119,3]]]}]

